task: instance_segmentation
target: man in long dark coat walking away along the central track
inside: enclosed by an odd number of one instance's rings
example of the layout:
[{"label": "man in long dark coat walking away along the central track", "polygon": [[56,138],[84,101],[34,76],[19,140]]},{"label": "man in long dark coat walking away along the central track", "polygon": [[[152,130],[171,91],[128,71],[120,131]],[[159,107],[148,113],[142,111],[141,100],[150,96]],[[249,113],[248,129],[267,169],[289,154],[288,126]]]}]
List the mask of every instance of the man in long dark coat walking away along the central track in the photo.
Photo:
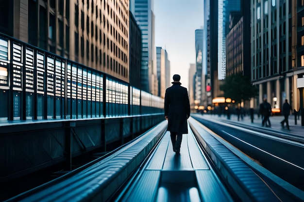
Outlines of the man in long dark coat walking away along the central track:
[{"label": "man in long dark coat walking away along the central track", "polygon": [[173,75],[172,86],[165,93],[165,118],[168,120],[173,151],[180,153],[183,134],[188,133],[187,119],[190,117],[188,91],[181,86],[181,76]]}]

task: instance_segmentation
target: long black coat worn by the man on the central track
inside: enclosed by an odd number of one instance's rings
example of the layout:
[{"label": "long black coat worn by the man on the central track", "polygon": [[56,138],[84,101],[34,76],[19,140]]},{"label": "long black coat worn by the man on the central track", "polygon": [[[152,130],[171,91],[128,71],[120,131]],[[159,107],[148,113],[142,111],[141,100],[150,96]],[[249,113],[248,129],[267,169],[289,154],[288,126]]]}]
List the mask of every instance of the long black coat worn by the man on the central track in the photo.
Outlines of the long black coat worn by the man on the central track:
[{"label": "long black coat worn by the man on the central track", "polygon": [[180,82],[173,82],[173,85],[166,90],[165,116],[168,116],[168,131],[188,133],[189,97],[187,89],[181,86]]}]

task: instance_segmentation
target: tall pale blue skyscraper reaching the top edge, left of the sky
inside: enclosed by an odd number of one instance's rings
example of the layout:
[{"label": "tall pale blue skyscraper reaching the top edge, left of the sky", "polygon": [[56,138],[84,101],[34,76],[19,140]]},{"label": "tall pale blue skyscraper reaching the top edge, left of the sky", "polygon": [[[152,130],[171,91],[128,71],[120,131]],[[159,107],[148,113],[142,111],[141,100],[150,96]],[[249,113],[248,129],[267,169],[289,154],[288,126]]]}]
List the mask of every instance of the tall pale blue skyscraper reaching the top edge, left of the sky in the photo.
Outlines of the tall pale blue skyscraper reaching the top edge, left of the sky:
[{"label": "tall pale blue skyscraper reaching the top edge, left of the sky", "polygon": [[153,0],[130,0],[130,11],[142,32],[141,89],[155,94],[157,87]]}]

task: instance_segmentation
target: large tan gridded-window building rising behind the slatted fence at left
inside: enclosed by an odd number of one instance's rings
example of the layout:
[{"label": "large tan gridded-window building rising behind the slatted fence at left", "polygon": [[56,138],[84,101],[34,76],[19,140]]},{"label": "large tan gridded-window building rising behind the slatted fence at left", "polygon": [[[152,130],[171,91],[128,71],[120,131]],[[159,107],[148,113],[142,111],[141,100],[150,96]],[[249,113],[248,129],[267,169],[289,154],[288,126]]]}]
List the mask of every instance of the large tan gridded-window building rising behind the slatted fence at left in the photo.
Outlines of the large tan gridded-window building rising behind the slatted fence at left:
[{"label": "large tan gridded-window building rising behind the slatted fence at left", "polygon": [[0,10],[2,33],[129,82],[129,0],[10,0]]}]

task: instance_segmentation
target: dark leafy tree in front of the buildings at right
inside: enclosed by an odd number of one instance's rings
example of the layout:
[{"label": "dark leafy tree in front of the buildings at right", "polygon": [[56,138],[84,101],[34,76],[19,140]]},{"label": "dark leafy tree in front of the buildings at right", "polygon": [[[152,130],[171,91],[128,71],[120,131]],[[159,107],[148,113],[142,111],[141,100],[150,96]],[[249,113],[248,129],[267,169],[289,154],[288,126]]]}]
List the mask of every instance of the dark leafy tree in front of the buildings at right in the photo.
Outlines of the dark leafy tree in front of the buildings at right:
[{"label": "dark leafy tree in front of the buildings at right", "polygon": [[224,83],[220,85],[220,90],[224,92],[226,98],[229,97],[237,103],[258,95],[258,89],[251,84],[250,78],[241,74],[226,77]]}]

